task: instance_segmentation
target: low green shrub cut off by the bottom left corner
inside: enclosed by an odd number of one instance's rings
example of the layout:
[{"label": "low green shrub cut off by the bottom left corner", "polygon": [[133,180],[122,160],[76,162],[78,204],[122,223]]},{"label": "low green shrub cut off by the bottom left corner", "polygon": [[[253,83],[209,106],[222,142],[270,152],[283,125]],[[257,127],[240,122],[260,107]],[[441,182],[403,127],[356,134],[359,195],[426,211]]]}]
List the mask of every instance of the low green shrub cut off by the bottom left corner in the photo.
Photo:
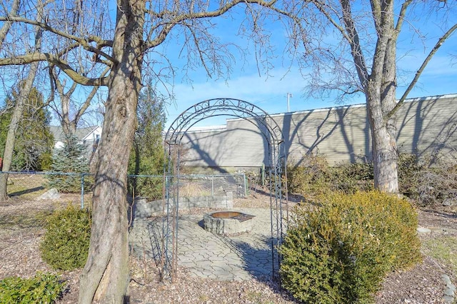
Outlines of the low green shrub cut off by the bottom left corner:
[{"label": "low green shrub cut off by the bottom left corner", "polygon": [[65,283],[56,275],[37,273],[34,278],[10,277],[0,280],[0,303],[53,303],[64,290]]}]

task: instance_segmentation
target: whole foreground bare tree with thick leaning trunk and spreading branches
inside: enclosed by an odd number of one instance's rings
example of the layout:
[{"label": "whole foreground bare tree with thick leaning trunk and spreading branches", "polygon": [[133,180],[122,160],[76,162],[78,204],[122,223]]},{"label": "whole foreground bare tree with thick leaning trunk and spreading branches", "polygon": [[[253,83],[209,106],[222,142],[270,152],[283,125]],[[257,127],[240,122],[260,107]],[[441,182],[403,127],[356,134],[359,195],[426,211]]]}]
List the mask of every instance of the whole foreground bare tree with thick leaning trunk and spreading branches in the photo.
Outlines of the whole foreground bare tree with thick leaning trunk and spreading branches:
[{"label": "whole foreground bare tree with thick leaning trunk and spreading branches", "polygon": [[[254,4],[262,9],[275,1],[118,0],[112,27],[109,1],[49,1],[43,21],[30,18],[34,4],[29,2],[17,16],[2,13],[0,21],[39,26],[44,30],[46,50],[14,47],[17,40],[9,39],[10,52],[0,59],[0,66],[47,61],[76,83],[109,89],[96,166],[89,258],[81,274],[79,303],[122,303],[129,283],[126,170],[148,52],[163,44],[167,36],[184,34],[189,64],[199,61],[209,75],[225,74],[224,68],[230,68],[230,62],[224,61],[227,49],[210,35],[211,19],[241,4],[255,17]],[[85,74],[79,69],[81,61],[87,66],[85,71],[102,66],[110,72],[107,76]]]}]

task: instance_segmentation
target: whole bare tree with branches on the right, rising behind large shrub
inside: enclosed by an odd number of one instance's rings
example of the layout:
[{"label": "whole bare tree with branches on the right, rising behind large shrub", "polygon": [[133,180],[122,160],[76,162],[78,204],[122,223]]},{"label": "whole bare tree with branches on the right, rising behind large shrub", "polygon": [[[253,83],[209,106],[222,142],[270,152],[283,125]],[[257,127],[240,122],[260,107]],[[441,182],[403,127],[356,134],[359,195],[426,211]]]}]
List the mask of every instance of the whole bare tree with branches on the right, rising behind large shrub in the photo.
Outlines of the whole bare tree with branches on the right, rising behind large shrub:
[{"label": "whole bare tree with branches on the right, rising behind large shrub", "polygon": [[[456,13],[456,4],[447,1],[416,0],[309,0],[291,1],[278,9],[290,17],[293,56],[301,56],[303,74],[310,95],[339,98],[363,93],[371,126],[375,186],[398,192],[395,113],[438,48],[457,29],[451,24],[418,68],[399,102],[397,91],[397,43],[409,9],[441,12],[442,26]],[[421,2],[421,3],[420,3]],[[414,6],[414,7],[413,7]],[[433,9],[433,8],[432,8]],[[428,21],[421,16],[421,21]],[[455,22],[455,19],[454,19]],[[414,32],[413,32],[414,34]],[[416,33],[417,34],[417,33]]]}]

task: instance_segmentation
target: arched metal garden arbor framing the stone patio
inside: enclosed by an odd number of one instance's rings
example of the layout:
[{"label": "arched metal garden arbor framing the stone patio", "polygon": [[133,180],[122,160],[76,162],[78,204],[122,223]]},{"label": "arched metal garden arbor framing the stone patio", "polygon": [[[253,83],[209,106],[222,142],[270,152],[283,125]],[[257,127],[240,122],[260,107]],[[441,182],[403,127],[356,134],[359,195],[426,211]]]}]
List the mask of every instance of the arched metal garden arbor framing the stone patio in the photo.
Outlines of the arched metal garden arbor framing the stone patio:
[{"label": "arched metal garden arbor framing the stone patio", "polygon": [[[270,191],[271,214],[271,254],[272,270],[276,273],[280,257],[276,246],[283,240],[286,212],[283,211],[283,189],[287,189],[287,179],[281,180],[281,175],[286,173],[286,153],[283,145],[281,128],[274,119],[265,111],[252,103],[233,98],[214,98],[201,101],[191,106],[176,120],[171,123],[165,136],[165,155],[168,161],[164,168],[164,205],[166,217],[162,226],[162,253],[161,268],[162,278],[173,280],[177,267],[178,256],[178,215],[179,215],[179,166],[181,140],[186,131],[199,121],[214,116],[233,116],[244,118],[258,126],[263,138],[268,143],[268,180]],[[249,120],[249,118],[253,118]]]}]

